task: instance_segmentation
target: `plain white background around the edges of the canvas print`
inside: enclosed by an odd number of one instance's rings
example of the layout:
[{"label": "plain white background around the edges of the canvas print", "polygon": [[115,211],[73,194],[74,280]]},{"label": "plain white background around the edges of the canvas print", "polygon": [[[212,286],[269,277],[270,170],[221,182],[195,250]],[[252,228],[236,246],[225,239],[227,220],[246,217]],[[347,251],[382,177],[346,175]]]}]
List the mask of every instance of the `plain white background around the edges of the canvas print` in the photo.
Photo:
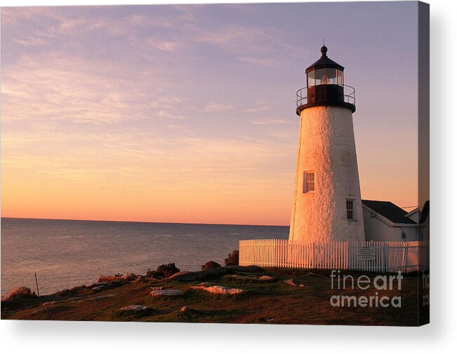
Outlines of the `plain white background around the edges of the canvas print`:
[{"label": "plain white background around the edges of the canvas print", "polygon": [[[213,1],[178,0],[175,3]],[[230,3],[243,1],[231,0]],[[260,2],[260,1],[250,1]],[[272,1],[263,1],[272,2]],[[284,1],[274,1],[284,2]],[[432,324],[415,327],[0,322],[3,353],[451,353],[456,349],[457,153],[455,1],[430,0]],[[2,6],[165,4],[168,1],[21,1]],[[305,19],[304,19],[305,20]]]}]

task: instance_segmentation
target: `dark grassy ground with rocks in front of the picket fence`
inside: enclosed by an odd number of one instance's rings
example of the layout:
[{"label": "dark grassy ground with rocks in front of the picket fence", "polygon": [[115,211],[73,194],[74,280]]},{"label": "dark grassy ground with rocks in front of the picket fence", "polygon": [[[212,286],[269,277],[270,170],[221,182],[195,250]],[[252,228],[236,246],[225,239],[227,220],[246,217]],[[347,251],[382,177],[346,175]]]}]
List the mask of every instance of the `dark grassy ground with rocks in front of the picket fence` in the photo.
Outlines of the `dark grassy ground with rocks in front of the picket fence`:
[{"label": "dark grassy ground with rocks in front of the picket fence", "polygon": [[[209,294],[192,289],[201,282],[179,280],[131,281],[94,293],[90,287],[79,287],[43,297],[13,298],[1,301],[2,319],[22,320],[99,320],[151,322],[220,322],[313,325],[417,325],[417,278],[405,276],[402,290],[380,290],[379,296],[401,296],[402,308],[333,307],[334,294],[373,295],[368,290],[331,290],[329,271],[267,268],[265,273],[238,276],[220,275],[206,279],[211,285],[245,290],[241,294]],[[361,272],[348,272],[354,276]],[[363,273],[365,274],[365,273]],[[369,274],[369,273],[367,273]],[[273,280],[258,280],[271,275]],[[371,274],[373,278],[376,274]],[[293,279],[293,287],[284,280]],[[175,297],[152,297],[150,287],[180,289]],[[60,294],[60,295],[59,295]],[[55,301],[55,302],[52,302]],[[47,304],[46,304],[47,303]],[[121,311],[128,305],[144,305],[144,312]],[[183,306],[187,311],[180,311]]]}]

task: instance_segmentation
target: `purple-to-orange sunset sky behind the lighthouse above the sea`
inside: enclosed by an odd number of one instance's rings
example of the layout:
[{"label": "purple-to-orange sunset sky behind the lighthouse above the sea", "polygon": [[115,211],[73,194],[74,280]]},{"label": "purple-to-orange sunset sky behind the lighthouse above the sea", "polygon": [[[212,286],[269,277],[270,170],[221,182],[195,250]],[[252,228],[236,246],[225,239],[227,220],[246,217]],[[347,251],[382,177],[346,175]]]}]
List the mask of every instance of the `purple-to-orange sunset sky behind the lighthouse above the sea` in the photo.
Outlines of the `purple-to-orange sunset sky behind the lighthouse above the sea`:
[{"label": "purple-to-orange sunset sky behind the lighthouse above the sea", "polygon": [[1,8],[1,216],[289,225],[323,37],[362,198],[418,205],[416,2],[25,7]]}]

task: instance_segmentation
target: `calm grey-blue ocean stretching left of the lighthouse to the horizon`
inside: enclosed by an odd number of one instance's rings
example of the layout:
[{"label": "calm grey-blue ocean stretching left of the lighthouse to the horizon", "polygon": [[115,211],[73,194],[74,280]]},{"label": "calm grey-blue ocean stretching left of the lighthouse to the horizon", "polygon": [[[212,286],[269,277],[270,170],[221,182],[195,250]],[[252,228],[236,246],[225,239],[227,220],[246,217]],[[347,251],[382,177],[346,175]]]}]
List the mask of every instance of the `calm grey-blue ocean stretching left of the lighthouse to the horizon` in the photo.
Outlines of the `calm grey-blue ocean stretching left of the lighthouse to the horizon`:
[{"label": "calm grey-blue ocean stretching left of the lighthouse to the horizon", "polygon": [[1,218],[1,296],[25,285],[52,294],[98,275],[145,274],[160,264],[197,271],[238,241],[287,238],[289,226],[93,222]]}]

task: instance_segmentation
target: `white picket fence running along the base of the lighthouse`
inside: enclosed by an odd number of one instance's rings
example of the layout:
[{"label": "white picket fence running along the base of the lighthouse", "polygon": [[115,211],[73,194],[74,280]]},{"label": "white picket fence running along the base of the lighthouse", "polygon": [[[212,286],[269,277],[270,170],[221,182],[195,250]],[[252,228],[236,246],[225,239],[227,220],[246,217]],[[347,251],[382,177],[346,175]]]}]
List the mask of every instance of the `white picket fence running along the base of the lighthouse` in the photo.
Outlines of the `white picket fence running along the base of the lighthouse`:
[{"label": "white picket fence running along the base of the lighthouse", "polygon": [[241,266],[411,272],[428,268],[428,255],[428,243],[423,241],[239,241]]}]

